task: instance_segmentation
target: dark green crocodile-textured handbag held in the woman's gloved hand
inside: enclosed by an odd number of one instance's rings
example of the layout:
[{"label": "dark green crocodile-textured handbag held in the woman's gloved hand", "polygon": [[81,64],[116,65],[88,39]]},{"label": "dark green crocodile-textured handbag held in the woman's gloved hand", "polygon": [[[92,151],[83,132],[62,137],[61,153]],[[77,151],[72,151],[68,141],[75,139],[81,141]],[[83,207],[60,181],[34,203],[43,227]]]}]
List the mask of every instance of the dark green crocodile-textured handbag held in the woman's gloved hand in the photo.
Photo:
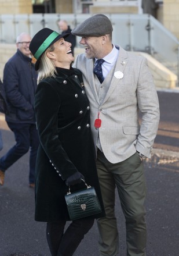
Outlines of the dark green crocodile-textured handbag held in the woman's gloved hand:
[{"label": "dark green crocodile-textured handbag held in the woman's gloved hand", "polygon": [[71,221],[100,214],[102,211],[94,187],[88,186],[85,180],[82,179],[82,181],[86,185],[85,189],[71,193],[69,187],[69,191],[65,195],[65,201]]}]

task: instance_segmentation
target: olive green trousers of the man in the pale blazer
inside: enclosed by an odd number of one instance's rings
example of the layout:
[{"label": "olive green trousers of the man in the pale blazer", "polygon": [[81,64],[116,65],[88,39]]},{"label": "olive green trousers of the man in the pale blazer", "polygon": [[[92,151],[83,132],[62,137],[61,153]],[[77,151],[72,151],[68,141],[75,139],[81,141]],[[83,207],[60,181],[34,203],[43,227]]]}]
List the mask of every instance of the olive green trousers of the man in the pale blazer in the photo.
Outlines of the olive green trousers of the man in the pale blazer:
[{"label": "olive green trousers of the man in the pale blazer", "polygon": [[[126,219],[127,256],[146,256],[145,177],[138,154],[119,163],[110,163],[97,152],[97,171],[106,216],[97,219],[100,255],[116,256],[119,235],[115,216],[115,188]],[[116,214],[118,214],[116,212]]]}]

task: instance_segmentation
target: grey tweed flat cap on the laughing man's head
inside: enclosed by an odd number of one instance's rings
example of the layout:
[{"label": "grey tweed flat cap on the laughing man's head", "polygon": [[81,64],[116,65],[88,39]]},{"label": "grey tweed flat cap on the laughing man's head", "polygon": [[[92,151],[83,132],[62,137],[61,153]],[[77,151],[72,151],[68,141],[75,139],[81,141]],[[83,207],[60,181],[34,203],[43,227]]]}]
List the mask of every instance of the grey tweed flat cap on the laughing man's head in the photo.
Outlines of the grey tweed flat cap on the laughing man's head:
[{"label": "grey tweed flat cap on the laughing man's head", "polygon": [[110,34],[112,30],[112,24],[108,17],[103,14],[97,14],[72,29],[71,33],[79,37],[100,37],[101,35]]}]

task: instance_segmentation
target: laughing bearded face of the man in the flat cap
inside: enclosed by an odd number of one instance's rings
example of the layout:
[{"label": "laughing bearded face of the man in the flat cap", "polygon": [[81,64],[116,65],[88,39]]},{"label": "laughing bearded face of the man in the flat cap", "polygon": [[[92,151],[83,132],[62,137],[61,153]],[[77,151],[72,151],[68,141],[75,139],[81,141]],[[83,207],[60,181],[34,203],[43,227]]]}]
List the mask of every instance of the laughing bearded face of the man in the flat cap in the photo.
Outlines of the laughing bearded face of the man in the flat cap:
[{"label": "laughing bearded face of the man in the flat cap", "polygon": [[79,43],[85,47],[88,59],[98,59],[103,55],[101,37],[82,37]]}]

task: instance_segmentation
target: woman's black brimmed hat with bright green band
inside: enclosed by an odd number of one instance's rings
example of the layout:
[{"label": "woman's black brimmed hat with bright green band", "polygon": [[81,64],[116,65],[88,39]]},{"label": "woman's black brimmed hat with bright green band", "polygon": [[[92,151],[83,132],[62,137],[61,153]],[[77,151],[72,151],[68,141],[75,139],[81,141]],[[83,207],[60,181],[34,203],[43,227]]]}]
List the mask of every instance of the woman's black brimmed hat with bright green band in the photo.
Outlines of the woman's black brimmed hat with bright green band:
[{"label": "woman's black brimmed hat with bright green band", "polygon": [[36,59],[35,70],[39,69],[39,62],[41,60],[41,56],[43,52],[46,51],[50,47],[50,45],[54,44],[54,42],[58,41],[60,38],[68,37],[70,34],[59,34],[52,29],[48,29],[45,27],[41,29],[34,35],[32,41],[30,43],[29,49]]}]

